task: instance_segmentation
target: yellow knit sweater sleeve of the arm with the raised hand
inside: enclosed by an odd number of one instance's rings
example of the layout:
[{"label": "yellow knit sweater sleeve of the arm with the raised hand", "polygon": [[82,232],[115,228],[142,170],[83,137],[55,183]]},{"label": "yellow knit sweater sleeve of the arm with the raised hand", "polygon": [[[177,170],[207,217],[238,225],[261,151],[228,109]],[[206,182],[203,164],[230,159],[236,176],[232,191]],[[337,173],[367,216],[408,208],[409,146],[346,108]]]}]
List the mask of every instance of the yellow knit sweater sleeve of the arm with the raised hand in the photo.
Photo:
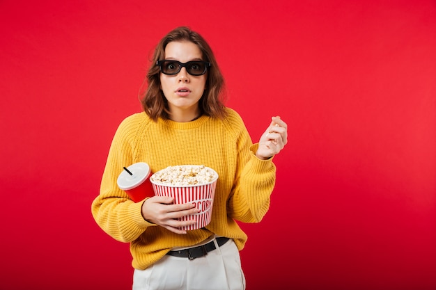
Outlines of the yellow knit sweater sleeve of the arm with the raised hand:
[{"label": "yellow knit sweater sleeve of the arm with the raised hand", "polygon": [[[258,144],[252,144],[242,120],[237,134],[237,170],[235,183],[227,203],[229,216],[243,223],[258,223],[270,208],[276,167],[272,159],[256,156]],[[236,126],[233,126],[235,128]]]}]

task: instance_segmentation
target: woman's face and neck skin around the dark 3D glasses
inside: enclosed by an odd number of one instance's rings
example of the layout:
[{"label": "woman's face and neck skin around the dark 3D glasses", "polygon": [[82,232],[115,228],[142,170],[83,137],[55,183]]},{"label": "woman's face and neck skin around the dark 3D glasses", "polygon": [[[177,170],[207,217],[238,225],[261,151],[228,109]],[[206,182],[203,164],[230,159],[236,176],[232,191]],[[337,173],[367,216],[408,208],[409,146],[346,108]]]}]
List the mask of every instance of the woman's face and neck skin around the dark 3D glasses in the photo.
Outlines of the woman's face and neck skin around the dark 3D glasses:
[{"label": "woman's face and neck skin around the dark 3D glasses", "polygon": [[[169,42],[165,47],[165,60],[180,61],[180,63],[203,61],[201,50],[189,41]],[[207,72],[201,76],[193,76],[188,74],[186,67],[182,67],[178,74],[167,75],[160,72],[159,77],[169,111],[197,117],[200,113],[198,101],[205,90]]]}]

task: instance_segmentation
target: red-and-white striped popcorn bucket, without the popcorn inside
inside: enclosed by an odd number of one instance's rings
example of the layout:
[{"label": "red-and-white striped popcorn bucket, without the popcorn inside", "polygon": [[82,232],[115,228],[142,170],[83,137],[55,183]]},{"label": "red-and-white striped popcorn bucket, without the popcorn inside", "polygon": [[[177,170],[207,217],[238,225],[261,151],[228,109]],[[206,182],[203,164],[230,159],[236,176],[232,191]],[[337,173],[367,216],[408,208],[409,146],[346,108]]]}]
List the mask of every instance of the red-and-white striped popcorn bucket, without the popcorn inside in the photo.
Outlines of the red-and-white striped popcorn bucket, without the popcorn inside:
[{"label": "red-and-white striped popcorn bucket, without the popcorn inside", "polygon": [[[212,170],[208,168],[208,170]],[[215,172],[215,170],[212,170]],[[198,214],[192,214],[189,216],[184,216],[178,218],[178,220],[196,220],[194,225],[187,225],[185,227],[180,227],[183,230],[200,229],[205,227],[210,223],[212,217],[212,207],[215,197],[215,188],[217,186],[218,173],[215,172],[216,178],[207,184],[200,185],[168,185],[160,184],[159,182],[154,182],[150,179],[153,185],[153,190],[155,195],[158,196],[169,196],[174,199],[175,204],[183,204],[192,202],[195,207],[200,210]]]}]

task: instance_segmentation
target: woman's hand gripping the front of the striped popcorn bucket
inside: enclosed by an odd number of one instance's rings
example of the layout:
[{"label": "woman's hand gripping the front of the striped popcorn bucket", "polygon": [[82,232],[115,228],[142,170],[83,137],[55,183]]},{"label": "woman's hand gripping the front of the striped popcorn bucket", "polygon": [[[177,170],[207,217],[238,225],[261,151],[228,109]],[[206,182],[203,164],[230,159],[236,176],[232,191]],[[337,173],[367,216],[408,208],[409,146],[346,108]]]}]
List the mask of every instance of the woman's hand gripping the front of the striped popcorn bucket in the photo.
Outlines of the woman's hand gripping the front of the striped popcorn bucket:
[{"label": "woman's hand gripping the front of the striped popcorn bucket", "polygon": [[173,204],[173,198],[169,196],[153,196],[142,204],[141,213],[144,219],[155,223],[176,234],[186,234],[185,230],[178,229],[187,225],[194,225],[195,220],[180,221],[182,216],[198,214],[195,204]]}]

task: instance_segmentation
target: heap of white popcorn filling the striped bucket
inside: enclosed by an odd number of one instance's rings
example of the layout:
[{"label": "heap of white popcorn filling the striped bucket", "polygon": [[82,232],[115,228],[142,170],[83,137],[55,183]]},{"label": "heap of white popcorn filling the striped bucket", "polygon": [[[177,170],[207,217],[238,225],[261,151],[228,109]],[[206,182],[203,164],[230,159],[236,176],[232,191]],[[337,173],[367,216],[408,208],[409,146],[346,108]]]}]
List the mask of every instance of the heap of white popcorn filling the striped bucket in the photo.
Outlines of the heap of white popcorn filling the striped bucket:
[{"label": "heap of white popcorn filling the striped bucket", "polygon": [[217,173],[204,165],[168,166],[150,177],[150,180],[163,185],[193,186],[208,184],[217,179]]}]

